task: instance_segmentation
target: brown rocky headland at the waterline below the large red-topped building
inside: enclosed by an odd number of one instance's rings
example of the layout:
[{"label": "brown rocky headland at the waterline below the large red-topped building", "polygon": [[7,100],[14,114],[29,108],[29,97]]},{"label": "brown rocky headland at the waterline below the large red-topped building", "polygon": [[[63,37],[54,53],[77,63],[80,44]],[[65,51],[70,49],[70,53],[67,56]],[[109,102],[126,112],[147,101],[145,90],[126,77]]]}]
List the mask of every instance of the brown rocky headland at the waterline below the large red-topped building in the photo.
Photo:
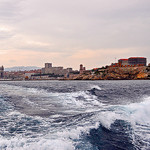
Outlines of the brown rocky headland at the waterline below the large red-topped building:
[{"label": "brown rocky headland at the waterline below the large red-topped building", "polygon": [[149,67],[106,67],[85,71],[66,80],[149,80]]}]

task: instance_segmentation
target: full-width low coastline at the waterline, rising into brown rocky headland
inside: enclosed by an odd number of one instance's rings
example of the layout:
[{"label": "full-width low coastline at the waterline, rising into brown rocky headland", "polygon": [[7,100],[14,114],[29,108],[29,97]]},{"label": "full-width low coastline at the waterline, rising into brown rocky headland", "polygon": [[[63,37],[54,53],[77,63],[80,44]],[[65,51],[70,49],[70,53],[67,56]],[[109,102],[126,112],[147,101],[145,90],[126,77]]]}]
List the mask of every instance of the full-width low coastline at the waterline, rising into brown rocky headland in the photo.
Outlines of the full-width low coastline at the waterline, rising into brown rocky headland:
[{"label": "full-width low coastline at the waterline, rising into brown rocky headland", "polygon": [[150,80],[150,66],[140,67],[106,67],[86,70],[79,74],[69,74],[65,77],[42,78],[3,78],[0,81],[44,81],[44,80]]}]

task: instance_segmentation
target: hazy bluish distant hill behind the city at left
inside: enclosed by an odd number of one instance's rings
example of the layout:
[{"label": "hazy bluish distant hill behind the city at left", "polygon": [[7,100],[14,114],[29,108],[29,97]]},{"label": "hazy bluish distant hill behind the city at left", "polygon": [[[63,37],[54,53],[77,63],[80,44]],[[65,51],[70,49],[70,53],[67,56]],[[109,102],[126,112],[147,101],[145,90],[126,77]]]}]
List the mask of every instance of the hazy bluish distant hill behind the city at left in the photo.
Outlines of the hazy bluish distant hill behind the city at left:
[{"label": "hazy bluish distant hill behind the city at left", "polygon": [[40,67],[36,66],[15,66],[10,68],[5,68],[5,71],[29,71],[29,70],[36,70],[41,69]]}]

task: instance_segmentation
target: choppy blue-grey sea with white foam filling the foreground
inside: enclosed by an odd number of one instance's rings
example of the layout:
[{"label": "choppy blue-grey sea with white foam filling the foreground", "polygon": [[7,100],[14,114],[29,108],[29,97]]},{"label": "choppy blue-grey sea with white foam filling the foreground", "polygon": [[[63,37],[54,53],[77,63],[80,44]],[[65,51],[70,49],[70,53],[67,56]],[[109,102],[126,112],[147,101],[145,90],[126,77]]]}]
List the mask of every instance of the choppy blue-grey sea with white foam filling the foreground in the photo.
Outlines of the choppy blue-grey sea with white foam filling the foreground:
[{"label": "choppy blue-grey sea with white foam filling the foreground", "polygon": [[0,150],[149,150],[150,80],[0,81]]}]

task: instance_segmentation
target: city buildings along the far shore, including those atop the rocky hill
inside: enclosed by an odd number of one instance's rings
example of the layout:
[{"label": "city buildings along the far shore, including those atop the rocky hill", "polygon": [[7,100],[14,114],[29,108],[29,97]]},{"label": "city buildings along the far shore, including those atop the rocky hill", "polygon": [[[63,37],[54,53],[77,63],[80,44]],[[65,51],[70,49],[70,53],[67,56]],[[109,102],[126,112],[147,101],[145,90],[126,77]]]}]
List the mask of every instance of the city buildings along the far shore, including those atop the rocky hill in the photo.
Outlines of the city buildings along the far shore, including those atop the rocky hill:
[{"label": "city buildings along the far shore, including those atop the rocky hill", "polygon": [[[149,71],[147,65],[147,58],[145,57],[130,57],[128,59],[119,59],[118,63],[112,63],[109,66],[102,66],[101,68],[93,68],[86,70],[86,68],[80,64],[79,70],[73,70],[72,68],[64,69],[62,66],[53,67],[52,63],[45,63],[44,68],[35,70],[24,71],[4,71],[4,67],[0,67],[0,79],[2,80],[71,80],[78,78],[82,75],[108,75],[111,71],[121,72],[128,70],[145,70],[145,73]],[[150,64],[149,64],[150,66]],[[134,72],[134,71],[133,71]],[[88,79],[88,77],[87,77]]]}]

